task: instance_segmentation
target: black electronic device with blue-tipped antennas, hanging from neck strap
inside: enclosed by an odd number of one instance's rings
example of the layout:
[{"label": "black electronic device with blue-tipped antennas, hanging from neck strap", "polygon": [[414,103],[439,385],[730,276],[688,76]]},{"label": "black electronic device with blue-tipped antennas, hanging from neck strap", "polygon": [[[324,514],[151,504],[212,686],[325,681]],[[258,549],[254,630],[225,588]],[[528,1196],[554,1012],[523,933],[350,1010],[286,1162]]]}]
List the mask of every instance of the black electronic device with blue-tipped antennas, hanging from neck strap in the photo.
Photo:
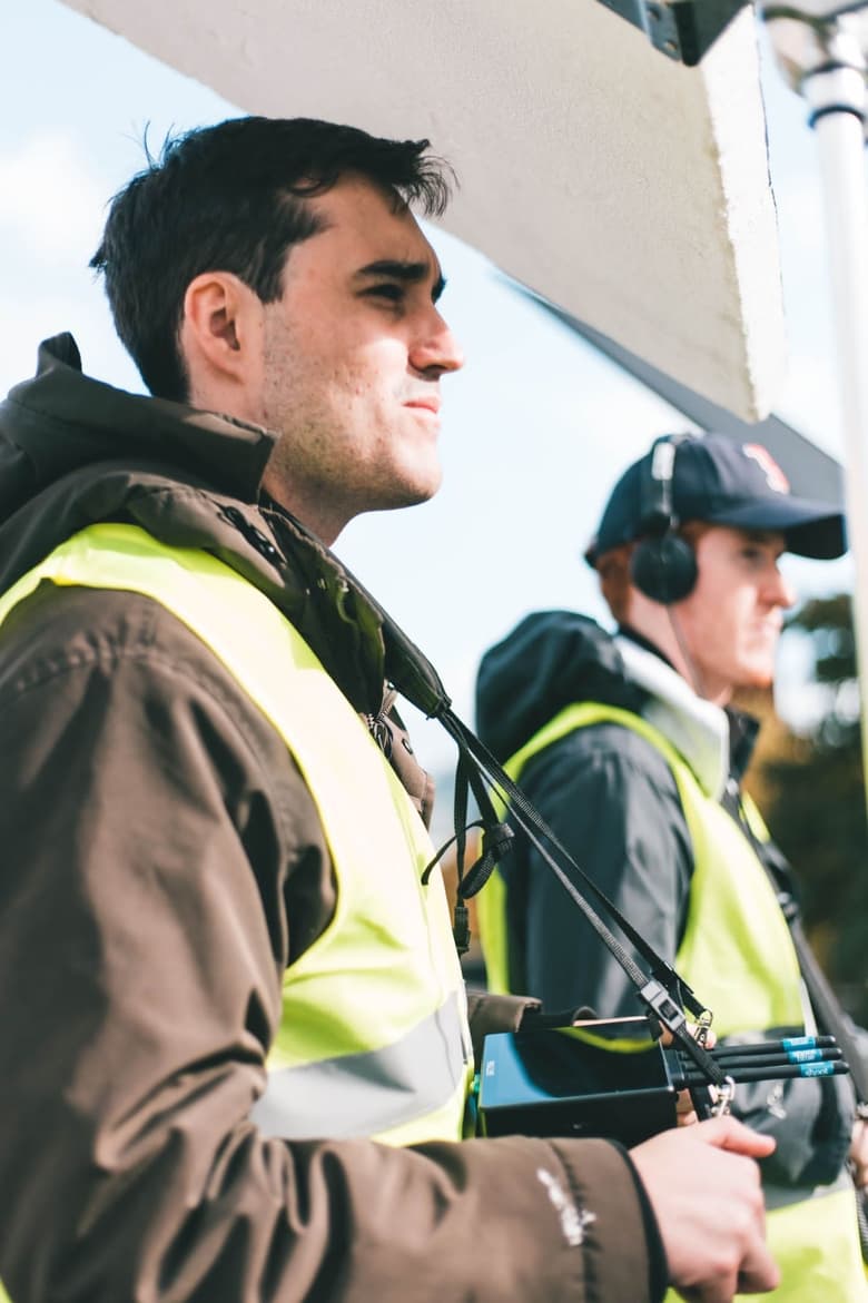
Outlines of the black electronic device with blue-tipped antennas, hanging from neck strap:
[{"label": "black electronic device with blue-tipped antennas, hanging from neck strap", "polygon": [[[729,1044],[710,1053],[731,1087],[847,1071],[832,1036]],[[485,1038],[478,1131],[610,1136],[632,1145],[675,1126],[682,1091],[697,1104],[709,1098],[689,1057],[656,1040],[646,1018],[500,1032]]]}]

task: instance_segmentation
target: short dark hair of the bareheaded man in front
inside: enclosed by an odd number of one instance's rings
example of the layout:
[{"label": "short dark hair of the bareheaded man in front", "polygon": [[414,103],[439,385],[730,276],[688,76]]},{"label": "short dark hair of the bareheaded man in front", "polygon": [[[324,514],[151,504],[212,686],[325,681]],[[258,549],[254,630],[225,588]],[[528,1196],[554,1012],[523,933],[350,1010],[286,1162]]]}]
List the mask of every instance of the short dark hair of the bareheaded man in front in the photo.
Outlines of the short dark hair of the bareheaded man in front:
[{"label": "short dark hair of the bareheaded man in front", "polygon": [[262,302],[280,297],[287,250],[321,229],[305,203],[356,173],[439,216],[451,171],[429,141],[390,141],[315,119],[235,117],[167,137],[111,202],[90,266],[106,276],[115,327],[151,391],[188,397],[179,345],[184,294],[231,271]]}]

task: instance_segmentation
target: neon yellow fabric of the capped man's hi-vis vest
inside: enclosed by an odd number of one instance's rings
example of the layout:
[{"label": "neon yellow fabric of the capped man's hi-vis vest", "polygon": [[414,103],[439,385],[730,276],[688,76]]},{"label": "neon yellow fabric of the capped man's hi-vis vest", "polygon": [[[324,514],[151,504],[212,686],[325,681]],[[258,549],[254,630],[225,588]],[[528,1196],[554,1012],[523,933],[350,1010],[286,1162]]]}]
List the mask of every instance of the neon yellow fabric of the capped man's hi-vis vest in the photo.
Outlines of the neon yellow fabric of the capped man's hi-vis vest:
[{"label": "neon yellow fabric of the capped man's hi-vis vest", "polygon": [[[766,1028],[800,1029],[804,1020],[799,962],[790,929],[748,839],[726,810],[700,787],[671,743],[639,715],[598,702],[567,706],[506,764],[516,782],[534,756],[576,728],[615,723],[656,747],[678,784],[693,847],[691,903],[675,967],[714,1014],[718,1037]],[[751,825],[768,837],[745,801]],[[579,860],[581,863],[581,859]],[[489,982],[510,990],[507,885],[491,876],[477,896],[477,920]],[[491,968],[489,969],[489,963]],[[614,963],[614,959],[613,959]],[[846,1173],[833,1186],[768,1190],[766,1234],[782,1283],[775,1303],[864,1303],[868,1300],[852,1183]],[[738,1295],[739,1299],[747,1295]],[[665,1303],[676,1303],[670,1291]]]}]

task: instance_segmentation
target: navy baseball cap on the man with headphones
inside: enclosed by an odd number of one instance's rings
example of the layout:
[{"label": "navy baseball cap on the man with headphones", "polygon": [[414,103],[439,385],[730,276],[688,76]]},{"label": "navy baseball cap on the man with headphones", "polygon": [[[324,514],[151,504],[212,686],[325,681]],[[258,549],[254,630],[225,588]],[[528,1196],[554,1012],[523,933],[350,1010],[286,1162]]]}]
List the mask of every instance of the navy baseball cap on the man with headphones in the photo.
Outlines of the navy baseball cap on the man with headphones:
[{"label": "navy baseball cap on the man with headphones", "polygon": [[[762,444],[739,443],[725,434],[679,437],[675,442],[671,502],[678,521],[775,530],[785,536],[787,551],[818,560],[847,550],[843,512],[829,502],[795,498]],[[589,566],[610,549],[641,537],[650,456],[649,451],[633,461],[613,489],[585,551]]]}]

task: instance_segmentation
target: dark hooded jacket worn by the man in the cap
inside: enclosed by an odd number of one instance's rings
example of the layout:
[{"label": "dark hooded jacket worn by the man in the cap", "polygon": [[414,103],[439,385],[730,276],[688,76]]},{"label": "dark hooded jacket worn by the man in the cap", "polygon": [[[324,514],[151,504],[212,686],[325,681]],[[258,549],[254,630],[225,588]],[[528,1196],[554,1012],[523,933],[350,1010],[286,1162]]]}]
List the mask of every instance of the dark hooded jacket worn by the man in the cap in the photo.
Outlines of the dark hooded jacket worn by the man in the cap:
[{"label": "dark hooded jacket worn by the man in the cap", "polygon": [[[624,631],[613,637],[571,611],[542,611],[527,616],[482,659],[477,726],[500,761],[576,701],[618,706],[657,723],[679,740],[706,790],[717,791],[738,817],[756,722],[700,701],[639,636]],[[675,778],[659,751],[629,728],[598,723],[536,754],[520,784],[585,873],[674,963],[687,923],[693,850]],[[551,1009],[584,999],[606,1018],[644,1012],[632,981],[538,852],[521,837],[516,843],[500,864],[515,988]],[[777,852],[775,864],[781,860]],[[626,947],[646,971],[646,962],[628,942]],[[777,1139],[766,1179],[802,1186],[838,1175],[854,1121],[846,1078],[743,1084],[738,1101],[734,1111]]]}]

